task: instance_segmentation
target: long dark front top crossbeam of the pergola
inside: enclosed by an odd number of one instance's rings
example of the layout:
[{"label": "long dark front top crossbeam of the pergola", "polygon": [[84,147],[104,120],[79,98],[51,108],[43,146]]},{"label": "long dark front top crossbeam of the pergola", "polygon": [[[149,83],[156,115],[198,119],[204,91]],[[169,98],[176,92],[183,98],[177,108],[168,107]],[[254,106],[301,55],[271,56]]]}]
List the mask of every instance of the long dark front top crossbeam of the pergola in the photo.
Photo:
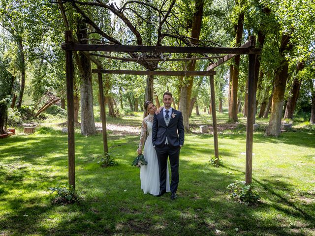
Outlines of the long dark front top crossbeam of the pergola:
[{"label": "long dark front top crossbeam of the pergola", "polygon": [[104,44],[63,43],[63,50],[105,51],[105,52],[146,52],[146,53],[199,53],[199,54],[260,54],[260,48],[214,48],[214,47],[169,47],[169,46],[127,46]]}]

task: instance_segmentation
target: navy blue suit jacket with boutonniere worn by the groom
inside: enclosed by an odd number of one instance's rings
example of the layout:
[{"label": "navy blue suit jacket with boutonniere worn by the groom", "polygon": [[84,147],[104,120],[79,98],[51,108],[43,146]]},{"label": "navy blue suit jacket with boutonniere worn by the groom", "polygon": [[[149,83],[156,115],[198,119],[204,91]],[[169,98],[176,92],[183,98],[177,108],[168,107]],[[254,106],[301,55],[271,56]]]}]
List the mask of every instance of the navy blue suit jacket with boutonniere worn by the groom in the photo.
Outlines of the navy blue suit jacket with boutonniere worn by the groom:
[{"label": "navy blue suit jacket with boutonniere worn by the groom", "polygon": [[185,129],[183,116],[180,111],[172,108],[172,114],[168,126],[166,126],[163,111],[155,115],[152,127],[152,144],[155,147],[163,148],[167,137],[168,145],[172,148],[184,145]]}]

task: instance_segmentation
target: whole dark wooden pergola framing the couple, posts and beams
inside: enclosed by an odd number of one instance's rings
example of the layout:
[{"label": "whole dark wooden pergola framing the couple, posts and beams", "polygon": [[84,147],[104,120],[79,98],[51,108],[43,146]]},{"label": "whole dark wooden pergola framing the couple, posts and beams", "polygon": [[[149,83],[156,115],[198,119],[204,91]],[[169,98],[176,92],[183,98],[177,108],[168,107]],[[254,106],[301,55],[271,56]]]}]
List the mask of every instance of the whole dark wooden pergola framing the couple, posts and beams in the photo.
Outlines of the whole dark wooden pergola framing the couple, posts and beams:
[{"label": "whole dark wooden pergola framing the couple, posts and beams", "polygon": [[[213,121],[213,136],[215,156],[219,158],[218,131],[215,104],[214,68],[232,59],[236,55],[249,55],[248,68],[248,116],[247,116],[247,134],[246,134],[246,184],[252,182],[252,140],[253,140],[253,116],[254,116],[254,69],[256,55],[261,53],[260,48],[255,48],[255,37],[250,36],[250,40],[239,48],[222,47],[167,47],[167,46],[126,46],[126,45],[102,45],[102,44],[78,44],[72,40],[71,31],[65,31],[65,43],[62,44],[65,50],[66,67],[66,93],[67,93],[67,125],[68,125],[68,177],[69,184],[75,187],[75,147],[74,147],[74,102],[73,102],[73,51],[83,52],[146,52],[146,53],[190,53],[190,54],[227,54],[225,56],[203,57],[192,59],[169,59],[169,60],[197,60],[214,59],[219,60],[210,64],[205,71],[133,71],[133,70],[106,70],[97,64],[97,69],[92,73],[98,75],[98,87],[100,100],[104,100],[102,74],[128,74],[128,75],[165,75],[165,76],[209,76],[211,89],[211,106]],[[100,54],[90,54],[93,56],[111,58]],[[117,59],[117,58],[115,58]],[[126,59],[122,60],[137,60]],[[164,59],[145,59],[145,60],[164,60]],[[104,153],[108,152],[107,132],[106,132],[106,114],[103,102],[100,102],[100,111],[103,129],[103,148]]]}]

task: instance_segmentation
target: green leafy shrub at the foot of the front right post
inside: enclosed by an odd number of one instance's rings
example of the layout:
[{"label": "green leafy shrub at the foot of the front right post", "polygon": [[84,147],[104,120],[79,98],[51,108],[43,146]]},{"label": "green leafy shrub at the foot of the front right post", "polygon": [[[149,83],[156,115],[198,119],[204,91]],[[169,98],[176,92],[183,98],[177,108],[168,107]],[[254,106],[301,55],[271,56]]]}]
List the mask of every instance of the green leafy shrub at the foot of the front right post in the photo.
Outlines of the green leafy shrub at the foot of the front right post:
[{"label": "green leafy shrub at the foot of the front right post", "polygon": [[229,190],[230,199],[247,206],[259,203],[259,193],[252,189],[251,184],[246,185],[245,183],[245,181],[236,180],[226,187]]}]

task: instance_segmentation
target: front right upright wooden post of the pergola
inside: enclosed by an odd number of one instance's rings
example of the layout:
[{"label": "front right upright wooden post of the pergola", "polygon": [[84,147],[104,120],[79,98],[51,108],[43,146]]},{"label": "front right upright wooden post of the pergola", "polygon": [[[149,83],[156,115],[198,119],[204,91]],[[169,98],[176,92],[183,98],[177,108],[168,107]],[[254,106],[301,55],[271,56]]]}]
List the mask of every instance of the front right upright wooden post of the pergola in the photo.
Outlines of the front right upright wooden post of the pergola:
[{"label": "front right upright wooden post of the pergola", "polygon": [[[255,47],[255,36],[250,36],[253,39],[251,47]],[[254,121],[254,77],[255,77],[255,58],[256,55],[249,54],[248,62],[248,100],[247,100],[247,128],[246,128],[246,184],[252,183],[252,136],[253,136],[253,121]]]}]

